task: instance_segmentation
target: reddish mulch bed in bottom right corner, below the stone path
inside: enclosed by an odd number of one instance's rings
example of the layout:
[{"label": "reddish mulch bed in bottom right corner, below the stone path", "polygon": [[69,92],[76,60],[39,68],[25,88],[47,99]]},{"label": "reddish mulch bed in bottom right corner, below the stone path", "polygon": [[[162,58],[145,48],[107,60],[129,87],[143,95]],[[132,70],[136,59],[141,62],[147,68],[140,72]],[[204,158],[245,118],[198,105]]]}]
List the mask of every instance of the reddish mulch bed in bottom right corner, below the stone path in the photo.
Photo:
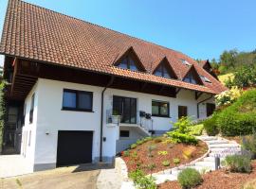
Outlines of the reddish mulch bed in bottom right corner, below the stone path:
[{"label": "reddish mulch bed in bottom right corner, below the stone path", "polygon": [[[252,172],[229,173],[224,169],[212,171],[203,176],[203,183],[196,189],[241,189],[249,180],[256,179],[256,161],[252,162]],[[167,181],[158,186],[158,189],[181,189],[177,181]]]}]

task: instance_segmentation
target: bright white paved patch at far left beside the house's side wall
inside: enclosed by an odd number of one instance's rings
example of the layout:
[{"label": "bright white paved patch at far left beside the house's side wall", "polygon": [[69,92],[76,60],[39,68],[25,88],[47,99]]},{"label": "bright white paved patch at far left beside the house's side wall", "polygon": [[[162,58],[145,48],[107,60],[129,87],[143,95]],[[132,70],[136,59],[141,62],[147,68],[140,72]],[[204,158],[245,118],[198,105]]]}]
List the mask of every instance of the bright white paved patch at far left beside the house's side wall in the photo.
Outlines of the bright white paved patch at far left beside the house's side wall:
[{"label": "bright white paved patch at far left beside the house's side wall", "polygon": [[21,155],[0,155],[0,178],[32,173],[32,167]]}]

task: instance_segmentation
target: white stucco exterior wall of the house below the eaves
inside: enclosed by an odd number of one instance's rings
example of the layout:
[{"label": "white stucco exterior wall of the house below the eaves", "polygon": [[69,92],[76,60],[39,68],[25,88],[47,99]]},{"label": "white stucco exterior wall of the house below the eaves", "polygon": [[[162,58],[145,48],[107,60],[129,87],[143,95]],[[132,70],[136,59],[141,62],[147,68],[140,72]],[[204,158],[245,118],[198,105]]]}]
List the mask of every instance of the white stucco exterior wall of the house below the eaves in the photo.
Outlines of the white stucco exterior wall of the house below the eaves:
[{"label": "white stucco exterior wall of the house below the eaves", "polygon": [[[93,93],[93,112],[62,111],[63,91],[73,89]],[[31,146],[27,148],[27,158],[34,164],[54,164],[57,158],[58,130],[92,130],[93,154],[92,159],[100,156],[100,130],[101,130],[101,92],[103,88],[91,85],[56,81],[39,78],[33,90],[27,95],[27,116],[24,130],[32,130]],[[28,123],[31,95],[35,93],[35,109],[33,124]],[[103,157],[113,157],[116,153],[116,142],[119,139],[119,128],[109,127],[106,124],[106,112],[112,110],[113,95],[137,98],[137,120],[139,123],[139,111],[152,112],[152,100],[168,101],[170,103],[170,117],[153,116],[155,130],[172,129],[171,121],[175,122],[178,116],[178,106],[187,106],[188,114],[196,118],[197,101],[209,96],[201,95],[196,101],[194,92],[181,90],[176,98],[154,94],[142,94],[136,92],[107,89],[104,94],[103,111]],[[200,116],[205,116],[206,107],[199,107]],[[82,146],[81,146],[82,147]],[[23,147],[22,147],[23,149]],[[29,154],[29,155],[28,155]]]}]

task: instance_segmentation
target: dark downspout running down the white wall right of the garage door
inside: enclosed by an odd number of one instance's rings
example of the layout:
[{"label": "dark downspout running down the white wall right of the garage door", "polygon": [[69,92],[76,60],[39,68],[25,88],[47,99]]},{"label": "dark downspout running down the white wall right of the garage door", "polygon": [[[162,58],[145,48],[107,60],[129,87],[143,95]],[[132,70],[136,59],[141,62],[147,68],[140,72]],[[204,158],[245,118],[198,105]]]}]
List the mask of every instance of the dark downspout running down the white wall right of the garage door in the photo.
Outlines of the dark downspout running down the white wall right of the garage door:
[{"label": "dark downspout running down the white wall right of the garage door", "polygon": [[101,92],[101,144],[100,144],[100,162],[102,162],[102,136],[103,136],[103,111],[104,111],[104,93],[106,89],[112,85],[115,77],[111,77],[107,85],[104,87],[103,91]]}]

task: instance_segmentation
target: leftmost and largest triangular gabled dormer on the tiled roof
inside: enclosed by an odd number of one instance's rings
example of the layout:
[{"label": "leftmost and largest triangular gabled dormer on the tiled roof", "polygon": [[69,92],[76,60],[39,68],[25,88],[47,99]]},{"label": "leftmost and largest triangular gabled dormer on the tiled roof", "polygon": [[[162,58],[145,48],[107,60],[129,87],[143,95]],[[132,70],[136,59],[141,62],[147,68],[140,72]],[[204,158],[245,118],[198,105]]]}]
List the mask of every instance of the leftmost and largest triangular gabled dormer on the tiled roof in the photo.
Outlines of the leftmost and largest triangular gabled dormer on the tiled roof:
[{"label": "leftmost and largest triangular gabled dormer on the tiled roof", "polygon": [[132,71],[146,71],[143,64],[138,59],[137,54],[133,47],[128,48],[126,52],[119,57],[119,59],[115,62],[114,65],[119,68]]}]

